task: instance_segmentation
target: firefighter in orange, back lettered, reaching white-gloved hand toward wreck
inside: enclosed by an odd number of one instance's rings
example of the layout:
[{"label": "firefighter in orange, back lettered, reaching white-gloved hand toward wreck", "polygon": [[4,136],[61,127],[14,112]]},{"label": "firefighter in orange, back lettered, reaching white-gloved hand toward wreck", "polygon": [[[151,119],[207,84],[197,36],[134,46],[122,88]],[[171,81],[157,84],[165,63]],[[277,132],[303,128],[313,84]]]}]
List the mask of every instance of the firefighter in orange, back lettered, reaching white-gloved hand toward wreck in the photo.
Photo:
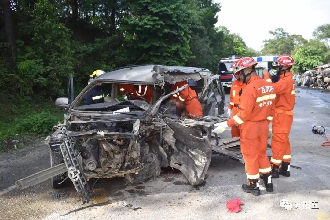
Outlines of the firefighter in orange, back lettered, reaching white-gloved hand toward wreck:
[{"label": "firefighter in orange, back lettered, reaching white-gloved hand toward wreck", "polygon": [[256,71],[257,62],[251,57],[242,57],[234,67],[239,70],[243,83],[248,85],[240,99],[239,112],[228,121],[215,124],[213,132],[221,133],[233,125],[240,125],[241,152],[245,161],[247,184],[243,191],[260,195],[259,175],[268,192],[274,191],[271,167],[266,155],[268,120],[274,115],[275,91],[271,83],[261,79]]}]

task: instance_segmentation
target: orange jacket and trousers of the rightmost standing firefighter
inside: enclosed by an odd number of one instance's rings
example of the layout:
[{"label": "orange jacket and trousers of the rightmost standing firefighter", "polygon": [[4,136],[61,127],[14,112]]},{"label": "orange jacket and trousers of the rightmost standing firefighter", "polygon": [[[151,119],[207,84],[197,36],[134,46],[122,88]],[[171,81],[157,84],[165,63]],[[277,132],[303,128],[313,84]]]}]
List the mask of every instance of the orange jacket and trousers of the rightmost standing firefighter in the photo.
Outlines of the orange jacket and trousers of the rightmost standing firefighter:
[{"label": "orange jacket and trousers of the rightmost standing firefighter", "polygon": [[[268,74],[264,75],[266,81],[271,82]],[[296,90],[292,79],[292,72],[280,75],[278,82],[272,83],[276,91],[275,116],[272,121],[273,137],[271,162],[281,165],[283,162],[290,162],[291,150],[289,134],[293,122],[293,107],[296,100]]]}]

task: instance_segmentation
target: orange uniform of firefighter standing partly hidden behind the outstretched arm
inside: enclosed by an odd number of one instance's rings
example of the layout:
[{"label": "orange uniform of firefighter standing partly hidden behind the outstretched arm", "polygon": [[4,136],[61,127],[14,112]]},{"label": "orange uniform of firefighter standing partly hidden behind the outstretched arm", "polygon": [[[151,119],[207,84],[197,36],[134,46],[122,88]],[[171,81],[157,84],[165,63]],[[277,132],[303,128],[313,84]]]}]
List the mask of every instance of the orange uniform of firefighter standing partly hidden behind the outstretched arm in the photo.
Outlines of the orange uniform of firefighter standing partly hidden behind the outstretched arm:
[{"label": "orange uniform of firefighter standing partly hidden behind the outstretched arm", "polygon": [[[232,115],[238,113],[239,105],[240,105],[240,95],[239,95],[240,90],[243,90],[246,86],[247,84],[237,79],[231,84],[228,109],[232,109],[231,112]],[[231,137],[240,137],[239,126],[234,125],[231,127]]]}]

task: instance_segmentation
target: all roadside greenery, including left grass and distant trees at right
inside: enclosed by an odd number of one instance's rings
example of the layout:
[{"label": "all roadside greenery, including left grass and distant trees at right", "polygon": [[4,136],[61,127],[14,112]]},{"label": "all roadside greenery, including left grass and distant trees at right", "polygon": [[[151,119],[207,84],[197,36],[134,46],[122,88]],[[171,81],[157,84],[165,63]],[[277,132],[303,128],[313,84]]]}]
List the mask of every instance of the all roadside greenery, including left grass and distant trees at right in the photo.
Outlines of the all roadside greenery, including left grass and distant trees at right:
[{"label": "all roadside greenery, including left grass and distant trees at right", "polygon": [[291,53],[297,73],[330,59],[330,24],[312,40],[279,28],[255,51],[215,26],[222,8],[213,0],[2,0],[0,7],[0,151],[3,140],[45,136],[63,119],[53,104],[70,74],[77,95],[94,70],[138,60],[216,74],[219,60],[232,55]]}]

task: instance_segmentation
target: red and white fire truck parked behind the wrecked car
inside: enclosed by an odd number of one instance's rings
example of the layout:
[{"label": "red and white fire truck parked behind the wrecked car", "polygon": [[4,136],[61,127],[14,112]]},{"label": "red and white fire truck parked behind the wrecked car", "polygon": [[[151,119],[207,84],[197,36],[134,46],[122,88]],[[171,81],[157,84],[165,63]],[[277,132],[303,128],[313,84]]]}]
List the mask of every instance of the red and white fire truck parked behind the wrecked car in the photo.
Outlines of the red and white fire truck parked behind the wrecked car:
[{"label": "red and white fire truck parked behind the wrecked car", "polygon": [[221,58],[219,62],[218,75],[220,76],[221,85],[224,88],[230,88],[233,83],[233,71],[230,70],[230,66],[234,61],[239,60],[241,57],[231,56],[227,58]]}]

